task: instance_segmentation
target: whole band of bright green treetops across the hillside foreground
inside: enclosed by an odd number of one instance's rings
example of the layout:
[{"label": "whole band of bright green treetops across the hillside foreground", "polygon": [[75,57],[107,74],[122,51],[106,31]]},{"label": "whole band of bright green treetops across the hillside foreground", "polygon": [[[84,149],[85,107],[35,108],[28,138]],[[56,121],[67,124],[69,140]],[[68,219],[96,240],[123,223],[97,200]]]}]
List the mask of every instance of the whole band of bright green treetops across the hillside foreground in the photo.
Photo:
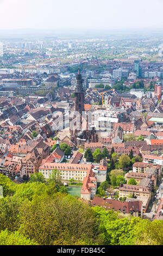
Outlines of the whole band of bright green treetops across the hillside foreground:
[{"label": "whole band of bright green treetops across the hillside foreground", "polygon": [[0,175],[0,245],[162,245],[162,221],[91,208],[52,189],[53,178],[16,185]]}]

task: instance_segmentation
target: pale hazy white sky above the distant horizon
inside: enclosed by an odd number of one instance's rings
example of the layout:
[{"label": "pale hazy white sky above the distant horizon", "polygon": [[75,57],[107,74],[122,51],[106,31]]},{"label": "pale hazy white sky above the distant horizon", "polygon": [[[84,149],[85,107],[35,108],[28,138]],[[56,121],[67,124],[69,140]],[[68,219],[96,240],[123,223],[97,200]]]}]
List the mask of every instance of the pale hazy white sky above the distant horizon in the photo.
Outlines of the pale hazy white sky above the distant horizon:
[{"label": "pale hazy white sky above the distant horizon", "polygon": [[162,28],[163,0],[0,0],[0,29]]}]

